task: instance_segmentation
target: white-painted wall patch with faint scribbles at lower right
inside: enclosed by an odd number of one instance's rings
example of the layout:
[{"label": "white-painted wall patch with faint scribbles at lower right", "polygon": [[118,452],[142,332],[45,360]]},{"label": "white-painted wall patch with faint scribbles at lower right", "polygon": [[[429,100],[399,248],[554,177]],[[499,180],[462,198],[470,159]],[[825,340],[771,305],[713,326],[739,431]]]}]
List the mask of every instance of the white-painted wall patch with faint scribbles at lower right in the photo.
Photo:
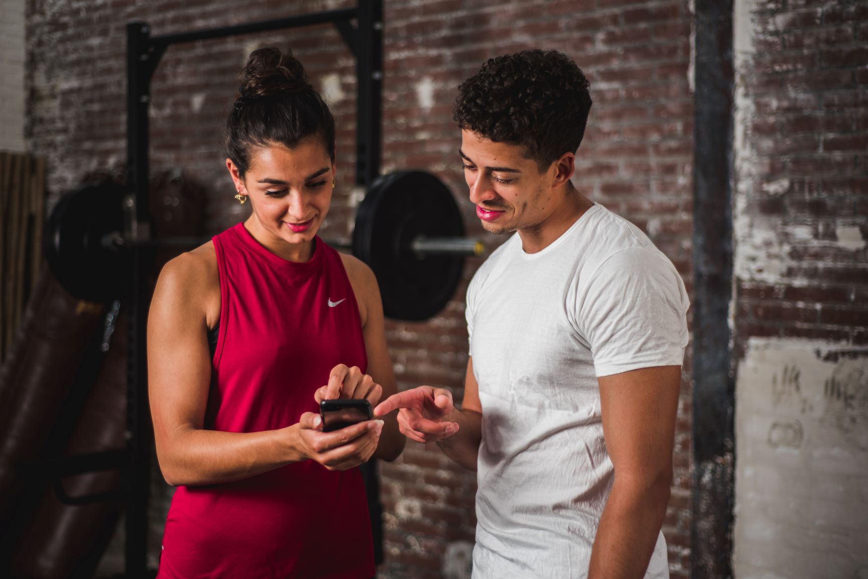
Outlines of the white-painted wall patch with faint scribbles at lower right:
[{"label": "white-painted wall patch with faint scribbles at lower right", "polygon": [[[794,339],[747,344],[736,379],[733,567],[740,579],[855,576],[868,565],[864,544],[853,548],[868,535],[868,449],[856,434],[868,425],[826,386],[868,375],[868,348],[864,357],[824,359],[836,348],[858,351]],[[868,383],[847,387],[865,396]]]}]

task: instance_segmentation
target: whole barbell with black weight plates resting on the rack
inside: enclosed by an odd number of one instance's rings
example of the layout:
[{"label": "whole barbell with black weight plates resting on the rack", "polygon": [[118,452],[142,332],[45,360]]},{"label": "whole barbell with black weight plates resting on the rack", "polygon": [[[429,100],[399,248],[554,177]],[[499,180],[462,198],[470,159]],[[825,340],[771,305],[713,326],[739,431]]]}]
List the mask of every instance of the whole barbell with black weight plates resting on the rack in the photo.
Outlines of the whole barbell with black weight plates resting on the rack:
[{"label": "whole barbell with black weight plates resting on the rack", "polygon": [[[64,195],[49,216],[44,250],[49,268],[72,296],[91,302],[118,299],[132,260],[127,249],[187,247],[198,237],[125,237],[126,187],[113,181]],[[373,183],[358,205],[352,244],[325,240],[367,263],[377,276],[385,315],[425,320],[455,294],[464,257],[484,244],[464,237],[464,220],[449,188],[431,173],[393,172]]]}]

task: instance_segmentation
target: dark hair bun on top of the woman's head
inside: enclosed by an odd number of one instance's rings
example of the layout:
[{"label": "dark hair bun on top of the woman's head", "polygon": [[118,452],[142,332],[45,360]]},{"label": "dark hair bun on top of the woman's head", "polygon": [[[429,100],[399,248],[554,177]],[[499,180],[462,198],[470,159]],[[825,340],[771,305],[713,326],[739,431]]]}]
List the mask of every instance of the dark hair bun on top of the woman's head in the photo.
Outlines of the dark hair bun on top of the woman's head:
[{"label": "dark hair bun on top of the woman's head", "polygon": [[305,67],[301,66],[292,51],[286,54],[280,49],[256,49],[247,59],[244,81],[239,92],[245,98],[255,98],[279,93],[300,93],[311,90]]}]

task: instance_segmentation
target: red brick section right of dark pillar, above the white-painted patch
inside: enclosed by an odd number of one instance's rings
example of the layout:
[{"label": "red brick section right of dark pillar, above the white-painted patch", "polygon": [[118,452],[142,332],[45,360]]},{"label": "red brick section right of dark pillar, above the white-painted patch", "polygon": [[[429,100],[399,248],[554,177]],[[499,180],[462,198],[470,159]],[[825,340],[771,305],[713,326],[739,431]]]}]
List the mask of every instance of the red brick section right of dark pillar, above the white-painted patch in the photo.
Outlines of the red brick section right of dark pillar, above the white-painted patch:
[{"label": "red brick section right of dark pillar, above the white-painted patch", "polygon": [[868,342],[868,3],[741,4],[737,331]]}]

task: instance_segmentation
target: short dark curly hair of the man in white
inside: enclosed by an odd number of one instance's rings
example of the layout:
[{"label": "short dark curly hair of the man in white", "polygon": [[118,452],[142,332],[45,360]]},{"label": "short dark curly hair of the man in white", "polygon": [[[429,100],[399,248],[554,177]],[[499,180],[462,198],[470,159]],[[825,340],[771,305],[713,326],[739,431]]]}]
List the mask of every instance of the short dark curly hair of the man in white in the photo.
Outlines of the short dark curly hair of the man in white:
[{"label": "short dark curly hair of the man in white", "polygon": [[544,171],[582,143],[590,84],[569,56],[523,50],[489,59],[458,87],[452,118],[464,130],[524,147]]}]

